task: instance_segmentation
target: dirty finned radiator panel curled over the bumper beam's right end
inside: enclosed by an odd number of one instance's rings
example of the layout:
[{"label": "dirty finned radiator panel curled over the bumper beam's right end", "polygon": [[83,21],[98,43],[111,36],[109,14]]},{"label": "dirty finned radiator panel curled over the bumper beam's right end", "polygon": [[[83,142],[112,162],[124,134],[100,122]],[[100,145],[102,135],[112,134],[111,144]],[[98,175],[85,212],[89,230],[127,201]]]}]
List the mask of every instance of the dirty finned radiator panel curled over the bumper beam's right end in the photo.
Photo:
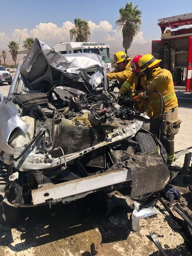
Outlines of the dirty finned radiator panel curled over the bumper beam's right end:
[{"label": "dirty finned radiator panel curled over the bumper beam's right end", "polygon": [[[129,155],[125,151],[116,150],[111,152],[114,166],[121,165],[131,171],[133,187],[130,198],[139,197],[150,193],[161,191],[169,181],[170,172],[163,164],[161,155],[157,150]],[[125,162],[122,157],[127,156]],[[117,169],[117,168],[116,168]]]}]

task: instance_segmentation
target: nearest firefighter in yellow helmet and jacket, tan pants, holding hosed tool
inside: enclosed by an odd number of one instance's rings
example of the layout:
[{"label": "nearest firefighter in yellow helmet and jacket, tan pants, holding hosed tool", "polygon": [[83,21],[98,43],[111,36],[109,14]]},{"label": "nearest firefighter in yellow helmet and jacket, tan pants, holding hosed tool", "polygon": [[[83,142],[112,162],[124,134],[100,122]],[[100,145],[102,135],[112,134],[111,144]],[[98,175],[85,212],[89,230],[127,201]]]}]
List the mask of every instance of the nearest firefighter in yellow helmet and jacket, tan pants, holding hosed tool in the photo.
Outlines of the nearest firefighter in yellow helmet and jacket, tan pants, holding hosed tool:
[{"label": "nearest firefighter in yellow helmet and jacket, tan pants, holding hosed tool", "polygon": [[[155,59],[151,54],[145,54],[139,59],[140,73],[147,76],[146,95],[153,108],[153,117],[150,127],[158,135],[167,151],[167,165],[171,165],[174,159],[174,136],[178,133],[181,120],[178,119],[178,101],[174,90],[173,77],[167,69],[161,69],[161,59]],[[165,100],[165,115],[162,122],[159,122],[161,101],[157,90]]]}]

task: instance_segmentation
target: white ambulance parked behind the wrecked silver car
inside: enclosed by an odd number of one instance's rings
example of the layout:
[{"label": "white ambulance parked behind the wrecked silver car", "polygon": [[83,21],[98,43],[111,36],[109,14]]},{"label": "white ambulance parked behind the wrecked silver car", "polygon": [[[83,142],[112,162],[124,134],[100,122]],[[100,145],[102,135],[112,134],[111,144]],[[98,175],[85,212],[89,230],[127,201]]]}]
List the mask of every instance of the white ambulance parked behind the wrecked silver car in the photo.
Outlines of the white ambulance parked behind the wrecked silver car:
[{"label": "white ambulance parked behind the wrecked silver car", "polygon": [[61,54],[66,53],[97,53],[101,55],[103,61],[107,65],[107,73],[111,72],[111,59],[109,52],[109,45],[105,43],[95,42],[70,42],[59,43],[52,46],[55,51],[59,51]]}]

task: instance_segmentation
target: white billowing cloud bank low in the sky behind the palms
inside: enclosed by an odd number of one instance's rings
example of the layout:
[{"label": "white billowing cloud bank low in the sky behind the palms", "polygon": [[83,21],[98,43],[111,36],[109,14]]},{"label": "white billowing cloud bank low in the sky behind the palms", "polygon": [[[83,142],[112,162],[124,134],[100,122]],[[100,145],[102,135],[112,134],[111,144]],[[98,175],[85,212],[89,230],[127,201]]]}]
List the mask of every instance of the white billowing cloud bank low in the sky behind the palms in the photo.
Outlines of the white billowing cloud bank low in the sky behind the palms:
[{"label": "white billowing cloud bank low in the sky behind the palms", "polygon": [[[116,29],[113,29],[113,26],[108,21],[100,21],[98,25],[92,21],[89,21],[88,23],[91,31],[90,41],[104,42],[109,44],[110,47],[122,47],[123,38],[121,31],[118,33]],[[8,38],[4,32],[0,32],[0,45],[3,45],[5,42],[8,44],[9,40],[19,42],[20,35],[21,42],[23,42],[26,37],[37,37],[49,46],[59,42],[70,42],[69,31],[73,26],[74,24],[70,21],[64,22],[61,27],[58,27],[58,25],[53,22],[39,23],[39,25],[36,25],[35,28],[30,31],[27,28],[15,29],[12,33],[12,37],[10,38]],[[145,42],[143,32],[139,32],[133,40],[133,43]],[[20,44],[20,49],[21,48],[22,44]]]}]

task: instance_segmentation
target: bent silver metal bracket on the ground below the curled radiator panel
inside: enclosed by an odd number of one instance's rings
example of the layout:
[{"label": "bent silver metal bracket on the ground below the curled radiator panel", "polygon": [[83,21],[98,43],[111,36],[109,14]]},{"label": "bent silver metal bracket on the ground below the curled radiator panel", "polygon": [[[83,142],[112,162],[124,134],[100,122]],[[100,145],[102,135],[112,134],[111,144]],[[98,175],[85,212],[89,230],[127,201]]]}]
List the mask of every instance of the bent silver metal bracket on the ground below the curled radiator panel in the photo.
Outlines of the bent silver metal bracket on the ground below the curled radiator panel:
[{"label": "bent silver metal bracket on the ground below the curled radiator panel", "polygon": [[136,202],[134,203],[135,209],[133,210],[133,213],[131,215],[131,227],[134,231],[139,232],[139,220],[150,217],[153,215],[157,215],[159,213],[158,210],[148,207],[144,209],[139,209],[141,206],[140,203]]}]

